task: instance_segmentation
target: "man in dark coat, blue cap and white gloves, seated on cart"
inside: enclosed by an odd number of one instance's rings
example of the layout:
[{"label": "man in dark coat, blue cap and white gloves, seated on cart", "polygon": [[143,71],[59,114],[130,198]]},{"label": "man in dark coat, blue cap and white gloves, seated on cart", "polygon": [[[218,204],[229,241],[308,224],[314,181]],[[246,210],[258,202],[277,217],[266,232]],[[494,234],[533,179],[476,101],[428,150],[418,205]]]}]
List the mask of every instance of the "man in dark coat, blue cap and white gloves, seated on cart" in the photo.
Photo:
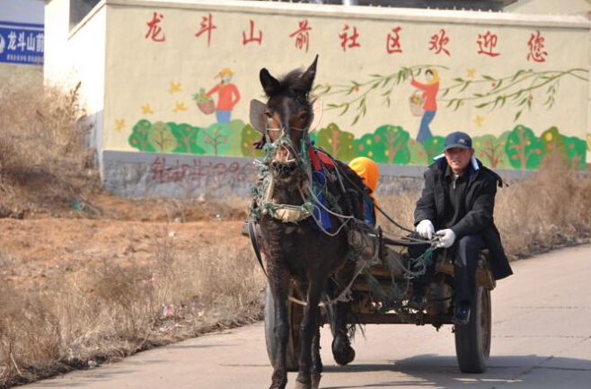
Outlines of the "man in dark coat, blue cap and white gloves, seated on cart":
[{"label": "man in dark coat, blue cap and white gloves, seated on cart", "polygon": [[[513,274],[493,222],[497,185],[501,187],[503,182],[497,173],[474,157],[472,138],[468,134],[454,132],[447,136],[444,156],[437,158],[425,172],[425,188],[417,201],[415,225],[420,236],[439,238],[437,248],[451,250],[455,282],[454,323],[467,324],[481,249],[490,251],[495,279]],[[420,253],[410,250],[414,257]],[[425,276],[413,283],[413,296],[408,304],[411,308],[422,309],[432,271],[433,268],[429,268]]]}]

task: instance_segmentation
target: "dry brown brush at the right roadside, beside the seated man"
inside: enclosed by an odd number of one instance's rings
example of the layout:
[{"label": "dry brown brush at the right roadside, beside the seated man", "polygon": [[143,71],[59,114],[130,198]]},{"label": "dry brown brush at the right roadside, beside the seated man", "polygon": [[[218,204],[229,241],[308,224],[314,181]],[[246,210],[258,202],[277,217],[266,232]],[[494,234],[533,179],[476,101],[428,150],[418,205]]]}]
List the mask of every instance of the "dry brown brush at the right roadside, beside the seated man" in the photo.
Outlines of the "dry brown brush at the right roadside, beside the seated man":
[{"label": "dry brown brush at the right roadside, beside the seated man", "polygon": [[591,232],[591,177],[547,155],[539,171],[498,190],[495,217],[512,259],[567,243]]}]

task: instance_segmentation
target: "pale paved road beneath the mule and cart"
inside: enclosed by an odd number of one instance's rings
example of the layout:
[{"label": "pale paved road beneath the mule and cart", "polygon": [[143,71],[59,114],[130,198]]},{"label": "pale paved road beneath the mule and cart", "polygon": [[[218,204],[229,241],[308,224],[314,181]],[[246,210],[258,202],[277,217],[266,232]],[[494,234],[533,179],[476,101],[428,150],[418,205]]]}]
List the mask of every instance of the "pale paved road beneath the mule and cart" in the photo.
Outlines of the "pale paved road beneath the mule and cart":
[{"label": "pale paved road beneath the mule and cart", "polygon": [[[367,325],[338,367],[324,331],[322,388],[591,388],[591,245],[513,263],[493,292],[489,369],[459,372],[451,326]],[[30,388],[266,388],[261,323],[146,351]],[[293,386],[295,373],[289,374]]]}]

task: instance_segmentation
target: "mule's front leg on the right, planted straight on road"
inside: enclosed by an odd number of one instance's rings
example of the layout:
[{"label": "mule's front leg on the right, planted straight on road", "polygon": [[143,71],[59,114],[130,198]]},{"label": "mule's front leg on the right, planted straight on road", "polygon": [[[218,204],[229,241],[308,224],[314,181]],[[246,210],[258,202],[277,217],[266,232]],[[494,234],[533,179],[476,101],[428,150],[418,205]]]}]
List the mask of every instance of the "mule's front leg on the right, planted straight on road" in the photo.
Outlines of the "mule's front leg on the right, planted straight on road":
[{"label": "mule's front leg on the right, planted straight on road", "polygon": [[326,277],[315,275],[308,282],[308,298],[304,307],[304,317],[300,326],[302,348],[299,358],[299,371],[295,378],[296,389],[311,389],[312,379],[310,369],[312,365],[312,339],[318,329],[318,303],[324,287]]}]

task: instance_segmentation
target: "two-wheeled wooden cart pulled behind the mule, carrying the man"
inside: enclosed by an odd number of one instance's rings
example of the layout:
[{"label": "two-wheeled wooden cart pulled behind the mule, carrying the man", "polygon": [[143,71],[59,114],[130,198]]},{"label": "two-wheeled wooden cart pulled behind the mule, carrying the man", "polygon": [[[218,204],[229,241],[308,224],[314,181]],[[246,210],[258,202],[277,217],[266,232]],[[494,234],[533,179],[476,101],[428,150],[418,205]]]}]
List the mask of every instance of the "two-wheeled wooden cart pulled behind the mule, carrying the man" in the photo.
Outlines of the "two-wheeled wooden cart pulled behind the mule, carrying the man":
[{"label": "two-wheeled wooden cart pulled behind the mule, carrying the man", "polygon": [[[491,329],[491,304],[490,291],[496,286],[495,279],[490,272],[490,254],[483,250],[479,255],[479,264],[476,271],[474,297],[472,299],[472,311],[470,321],[465,325],[455,325],[454,316],[454,264],[453,260],[445,253],[437,255],[435,273],[430,283],[426,300],[427,305],[421,311],[412,310],[405,306],[404,302],[410,298],[411,288],[408,273],[392,266],[393,261],[409,268],[412,261],[403,249],[400,252],[392,250],[393,246],[404,246],[404,241],[384,237],[381,232],[375,235],[380,247],[380,261],[375,261],[366,271],[359,274],[351,285],[350,301],[352,314],[350,323],[355,324],[432,324],[437,331],[444,324],[454,325],[455,353],[458,365],[463,373],[483,373],[487,367],[490,355],[490,329]],[[440,251],[442,252],[442,251]],[[380,293],[375,293],[376,281],[384,290],[398,288],[399,305],[385,306],[380,299]],[[404,285],[407,287],[404,288]],[[402,287],[401,287],[402,286]],[[289,326],[289,339],[287,344],[287,369],[297,371],[299,355],[299,326],[302,320],[304,306],[297,303],[303,300],[303,296],[297,296],[295,287],[289,289],[287,301],[287,313]],[[275,327],[275,313],[273,296],[269,287],[265,296],[265,339],[269,360],[275,354],[277,348],[273,328]],[[325,298],[326,300],[329,297]],[[322,325],[331,325],[334,317],[333,305],[321,306]],[[331,326],[334,331],[334,326]],[[334,335],[334,333],[333,333]]]}]

